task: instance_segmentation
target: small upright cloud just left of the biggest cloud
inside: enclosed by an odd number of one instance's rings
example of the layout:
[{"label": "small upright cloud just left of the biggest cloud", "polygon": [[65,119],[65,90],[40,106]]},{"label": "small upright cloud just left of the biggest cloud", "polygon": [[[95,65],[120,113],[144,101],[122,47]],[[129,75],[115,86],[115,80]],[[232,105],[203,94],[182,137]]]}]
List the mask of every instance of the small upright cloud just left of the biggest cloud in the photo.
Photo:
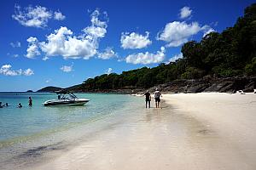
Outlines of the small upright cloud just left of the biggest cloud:
[{"label": "small upright cloud just left of the biggest cloud", "polygon": [[26,49],[26,57],[33,59],[35,56],[40,55],[38,49],[38,39],[36,37],[29,37],[26,40],[28,42],[28,48]]}]

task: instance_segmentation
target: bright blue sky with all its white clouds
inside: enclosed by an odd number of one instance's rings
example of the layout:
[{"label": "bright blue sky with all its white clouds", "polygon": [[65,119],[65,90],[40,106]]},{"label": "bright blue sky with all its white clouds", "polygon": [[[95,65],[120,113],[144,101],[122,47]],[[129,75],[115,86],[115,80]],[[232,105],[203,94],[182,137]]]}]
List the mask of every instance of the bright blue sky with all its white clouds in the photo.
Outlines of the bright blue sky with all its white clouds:
[{"label": "bright blue sky with all its white clouds", "polygon": [[181,58],[181,46],[233,26],[236,1],[1,1],[0,91],[66,88]]}]

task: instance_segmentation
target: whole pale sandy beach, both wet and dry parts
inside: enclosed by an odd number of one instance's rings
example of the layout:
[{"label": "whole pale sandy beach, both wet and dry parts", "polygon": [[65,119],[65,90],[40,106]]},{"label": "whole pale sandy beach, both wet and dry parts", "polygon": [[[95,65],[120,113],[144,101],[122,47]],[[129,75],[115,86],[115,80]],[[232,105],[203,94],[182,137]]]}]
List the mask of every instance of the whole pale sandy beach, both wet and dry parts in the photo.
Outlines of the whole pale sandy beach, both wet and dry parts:
[{"label": "whole pale sandy beach, both wet and dry parts", "polygon": [[162,99],[26,169],[256,169],[256,94]]}]

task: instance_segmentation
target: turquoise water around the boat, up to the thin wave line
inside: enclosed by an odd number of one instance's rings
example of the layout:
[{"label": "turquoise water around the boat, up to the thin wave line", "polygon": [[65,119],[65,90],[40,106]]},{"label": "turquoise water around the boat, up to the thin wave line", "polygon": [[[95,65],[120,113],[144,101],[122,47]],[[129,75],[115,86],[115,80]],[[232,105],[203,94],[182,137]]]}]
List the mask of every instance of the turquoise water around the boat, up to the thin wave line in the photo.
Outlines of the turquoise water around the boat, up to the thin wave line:
[{"label": "turquoise water around the boat, up to the thin wave line", "polygon": [[[45,107],[42,103],[56,99],[55,94],[0,93],[0,101],[9,103],[8,107],[0,108],[0,149],[83,127],[84,124],[124,112],[129,105],[143,107],[142,99],[125,94],[76,95],[90,99],[90,102],[84,106]],[[29,96],[32,97],[32,107],[28,106]],[[22,108],[17,107],[19,103]]]}]

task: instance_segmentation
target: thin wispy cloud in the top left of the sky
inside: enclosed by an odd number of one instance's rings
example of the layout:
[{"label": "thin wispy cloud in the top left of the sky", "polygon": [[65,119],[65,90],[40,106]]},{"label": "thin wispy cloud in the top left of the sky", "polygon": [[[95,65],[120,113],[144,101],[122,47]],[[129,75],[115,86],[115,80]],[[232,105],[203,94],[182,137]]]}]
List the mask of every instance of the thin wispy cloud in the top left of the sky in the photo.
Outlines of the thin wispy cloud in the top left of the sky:
[{"label": "thin wispy cloud in the top left of the sky", "polygon": [[48,10],[45,7],[26,7],[21,9],[20,5],[15,4],[15,14],[12,15],[14,20],[17,20],[22,26],[31,26],[43,28],[47,26],[48,20],[54,15],[55,20],[64,20],[65,16],[61,12]]}]

